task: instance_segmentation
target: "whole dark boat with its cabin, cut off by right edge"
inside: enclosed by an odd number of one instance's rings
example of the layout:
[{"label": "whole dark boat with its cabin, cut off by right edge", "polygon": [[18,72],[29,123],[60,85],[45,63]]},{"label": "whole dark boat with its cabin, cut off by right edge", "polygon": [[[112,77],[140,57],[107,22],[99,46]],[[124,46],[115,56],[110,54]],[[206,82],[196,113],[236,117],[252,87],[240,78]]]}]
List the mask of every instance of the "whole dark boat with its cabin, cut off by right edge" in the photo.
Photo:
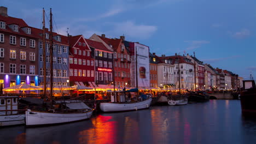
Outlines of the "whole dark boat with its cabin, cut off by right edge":
[{"label": "whole dark boat with its cabin, cut off by right edge", "polygon": [[243,81],[243,90],[240,95],[243,116],[256,117],[256,86],[254,80]]}]

